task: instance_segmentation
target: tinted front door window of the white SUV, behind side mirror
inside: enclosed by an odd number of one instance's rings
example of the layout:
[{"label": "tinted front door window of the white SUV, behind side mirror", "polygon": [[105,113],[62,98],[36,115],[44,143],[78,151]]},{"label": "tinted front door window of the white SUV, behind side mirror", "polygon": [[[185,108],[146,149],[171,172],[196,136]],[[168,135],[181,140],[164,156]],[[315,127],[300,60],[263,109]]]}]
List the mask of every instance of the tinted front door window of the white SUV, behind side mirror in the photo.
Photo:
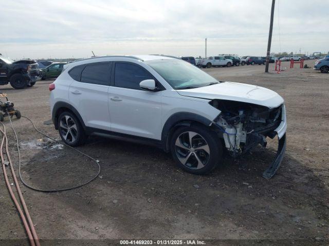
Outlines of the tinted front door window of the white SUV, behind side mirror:
[{"label": "tinted front door window of the white SUV, behind side mirror", "polygon": [[154,79],[144,68],[131,63],[116,63],[114,83],[116,87],[141,90],[139,83],[145,79]]}]

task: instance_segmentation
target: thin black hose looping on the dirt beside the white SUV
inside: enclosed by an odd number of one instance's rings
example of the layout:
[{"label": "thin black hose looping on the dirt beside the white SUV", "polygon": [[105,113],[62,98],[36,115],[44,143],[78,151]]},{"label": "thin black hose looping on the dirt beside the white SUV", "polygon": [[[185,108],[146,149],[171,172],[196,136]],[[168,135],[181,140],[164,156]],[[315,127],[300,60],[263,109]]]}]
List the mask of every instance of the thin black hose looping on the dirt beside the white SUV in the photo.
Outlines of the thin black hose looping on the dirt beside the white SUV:
[{"label": "thin black hose looping on the dirt beside the white SUV", "polygon": [[89,179],[88,181],[86,181],[86,182],[84,182],[84,183],[81,183],[80,185],[76,185],[76,186],[72,186],[72,187],[68,187],[68,188],[62,188],[62,189],[54,189],[54,190],[39,189],[39,188],[35,188],[35,187],[32,187],[32,186],[28,185],[28,184],[25,182],[25,180],[23,179],[23,177],[22,177],[22,173],[21,173],[21,153],[20,153],[19,138],[17,137],[16,131],[15,131],[13,125],[12,125],[11,118],[9,117],[11,128],[12,128],[14,134],[15,134],[15,137],[16,137],[17,152],[18,152],[18,154],[19,154],[19,175],[20,175],[20,179],[21,179],[22,183],[23,183],[26,187],[28,187],[28,188],[30,188],[30,189],[32,189],[32,190],[34,190],[34,191],[42,191],[42,192],[59,192],[59,191],[68,191],[68,190],[73,190],[73,189],[76,189],[76,188],[79,188],[79,187],[85,186],[85,185],[87,185],[88,183],[92,182],[95,178],[98,177],[98,175],[99,175],[100,172],[101,172],[101,166],[99,165],[98,160],[96,160],[96,159],[94,159],[93,157],[91,157],[91,156],[89,156],[89,155],[87,155],[87,154],[81,152],[80,150],[77,150],[77,149],[74,148],[74,147],[71,147],[71,146],[65,144],[64,142],[58,141],[58,140],[56,140],[56,139],[50,137],[50,136],[47,135],[46,133],[44,133],[44,132],[40,131],[38,128],[36,128],[35,125],[34,125],[34,123],[33,123],[33,121],[32,121],[30,118],[28,118],[28,117],[26,117],[26,116],[23,116],[23,115],[22,115],[22,117],[28,119],[28,120],[31,122],[31,124],[33,125],[33,128],[35,129],[36,132],[39,132],[40,134],[44,135],[45,137],[47,137],[47,138],[49,138],[49,139],[51,139],[51,140],[53,140],[53,141],[55,141],[55,142],[58,142],[59,144],[65,145],[65,146],[67,146],[67,147],[69,147],[69,148],[71,148],[71,149],[77,151],[78,153],[80,153],[80,154],[82,154],[82,155],[88,157],[89,159],[95,161],[95,162],[96,162],[96,165],[98,166],[97,174],[95,174],[95,176],[92,177],[91,179]]}]

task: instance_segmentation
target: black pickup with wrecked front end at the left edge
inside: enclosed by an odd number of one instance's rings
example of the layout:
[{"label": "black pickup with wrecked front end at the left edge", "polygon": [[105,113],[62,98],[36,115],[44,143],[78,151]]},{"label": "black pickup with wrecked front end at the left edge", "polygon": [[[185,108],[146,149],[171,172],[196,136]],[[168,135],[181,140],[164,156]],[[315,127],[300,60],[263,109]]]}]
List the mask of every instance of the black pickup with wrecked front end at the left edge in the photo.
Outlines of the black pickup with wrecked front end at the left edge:
[{"label": "black pickup with wrecked front end at the left edge", "polygon": [[0,85],[10,85],[14,89],[34,86],[35,76],[30,75],[31,65],[27,62],[15,62],[0,55]]}]

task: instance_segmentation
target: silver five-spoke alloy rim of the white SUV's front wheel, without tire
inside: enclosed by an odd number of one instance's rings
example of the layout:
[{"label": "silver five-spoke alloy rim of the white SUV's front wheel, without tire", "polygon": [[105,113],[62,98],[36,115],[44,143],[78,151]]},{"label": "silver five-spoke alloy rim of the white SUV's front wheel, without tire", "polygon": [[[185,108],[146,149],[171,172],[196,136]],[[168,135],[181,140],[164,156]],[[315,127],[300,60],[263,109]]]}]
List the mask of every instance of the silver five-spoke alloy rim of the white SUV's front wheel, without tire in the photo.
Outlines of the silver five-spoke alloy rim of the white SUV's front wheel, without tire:
[{"label": "silver five-spoke alloy rim of the white SUV's front wheel, without tire", "polygon": [[180,163],[190,169],[204,168],[210,158],[208,142],[192,131],[183,132],[177,137],[175,153]]}]

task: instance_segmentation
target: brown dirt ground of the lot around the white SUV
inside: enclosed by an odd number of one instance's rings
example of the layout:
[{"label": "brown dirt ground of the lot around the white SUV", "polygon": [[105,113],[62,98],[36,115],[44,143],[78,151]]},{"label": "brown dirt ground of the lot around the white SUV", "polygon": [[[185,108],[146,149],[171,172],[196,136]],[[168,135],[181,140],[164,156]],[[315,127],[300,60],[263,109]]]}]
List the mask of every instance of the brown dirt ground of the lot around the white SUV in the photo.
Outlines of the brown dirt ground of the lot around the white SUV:
[{"label": "brown dirt ground of the lot around the white SUV", "polygon": [[[312,67],[314,60],[306,64]],[[205,71],[221,80],[267,87],[284,97],[287,150],[275,177],[262,177],[275,155],[275,142],[241,159],[226,157],[213,173],[196,176],[179,170],[161,150],[93,137],[79,147],[100,160],[101,176],[92,183],[57,193],[21,186],[43,245],[119,245],[120,239],[203,239],[206,245],[327,243],[322,239],[329,239],[329,74],[299,68],[277,74],[270,66],[269,74],[263,65]],[[26,90],[5,86],[1,91],[22,115],[58,138],[52,125],[43,124],[50,119],[50,83],[38,81]],[[13,132],[9,122],[5,124],[18,171]],[[20,138],[23,177],[30,185],[63,188],[97,171],[95,162],[49,142],[26,119],[13,124]],[[28,245],[3,174],[0,224],[1,245]]]}]

